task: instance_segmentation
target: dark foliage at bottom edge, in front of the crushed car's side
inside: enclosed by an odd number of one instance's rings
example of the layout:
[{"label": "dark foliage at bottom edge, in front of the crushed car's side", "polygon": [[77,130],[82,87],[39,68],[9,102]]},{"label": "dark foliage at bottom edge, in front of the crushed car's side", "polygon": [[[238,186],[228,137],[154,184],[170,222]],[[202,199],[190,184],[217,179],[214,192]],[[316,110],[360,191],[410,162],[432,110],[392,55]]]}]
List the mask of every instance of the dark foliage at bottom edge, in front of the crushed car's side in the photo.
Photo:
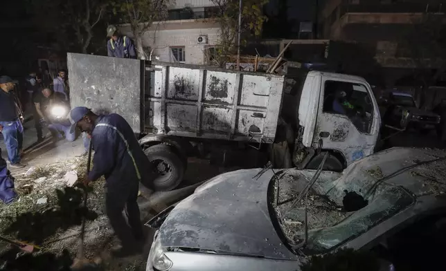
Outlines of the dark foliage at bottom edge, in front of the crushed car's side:
[{"label": "dark foliage at bottom edge, in front of the crushed car's side", "polygon": [[332,254],[312,256],[301,265],[302,271],[378,271],[377,256],[369,251],[338,250]]}]

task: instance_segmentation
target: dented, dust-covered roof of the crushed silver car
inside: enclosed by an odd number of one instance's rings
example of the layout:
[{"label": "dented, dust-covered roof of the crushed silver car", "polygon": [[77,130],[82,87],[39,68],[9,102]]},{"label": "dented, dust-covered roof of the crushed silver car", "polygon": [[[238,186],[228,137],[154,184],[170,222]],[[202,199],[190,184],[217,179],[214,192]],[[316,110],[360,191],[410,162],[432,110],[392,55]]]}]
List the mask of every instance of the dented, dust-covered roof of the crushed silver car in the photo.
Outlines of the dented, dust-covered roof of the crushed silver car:
[{"label": "dented, dust-covered roof of the crushed silver car", "polygon": [[446,176],[446,151],[398,147],[354,162],[339,180],[349,191],[349,187],[367,190],[366,187],[379,182],[404,187],[415,196],[422,196],[446,193],[443,176]]}]

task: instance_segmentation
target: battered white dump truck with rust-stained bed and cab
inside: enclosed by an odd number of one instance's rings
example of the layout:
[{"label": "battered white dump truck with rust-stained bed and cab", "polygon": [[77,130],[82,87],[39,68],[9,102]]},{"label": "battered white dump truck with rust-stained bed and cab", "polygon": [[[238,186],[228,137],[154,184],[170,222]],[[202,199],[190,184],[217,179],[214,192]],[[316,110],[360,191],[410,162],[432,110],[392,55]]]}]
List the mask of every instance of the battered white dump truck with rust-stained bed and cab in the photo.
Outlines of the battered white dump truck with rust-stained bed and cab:
[{"label": "battered white dump truck with rust-stained bed and cab", "polygon": [[324,168],[342,171],[373,153],[380,131],[371,86],[353,75],[76,53],[67,60],[71,106],[122,115],[159,173],[159,190],[181,183],[191,156],[316,169],[328,152]]}]

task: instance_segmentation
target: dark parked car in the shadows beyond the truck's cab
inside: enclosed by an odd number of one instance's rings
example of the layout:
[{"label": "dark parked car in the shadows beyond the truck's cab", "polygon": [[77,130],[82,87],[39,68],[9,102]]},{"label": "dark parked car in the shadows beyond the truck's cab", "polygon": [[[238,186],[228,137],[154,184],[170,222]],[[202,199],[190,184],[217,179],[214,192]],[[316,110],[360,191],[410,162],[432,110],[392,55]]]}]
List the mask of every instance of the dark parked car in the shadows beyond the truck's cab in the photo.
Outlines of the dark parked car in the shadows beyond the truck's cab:
[{"label": "dark parked car in the shadows beyond the truck's cab", "polygon": [[387,106],[387,111],[384,114],[384,124],[398,127],[403,111],[411,113],[408,128],[416,129],[420,133],[427,133],[432,129],[436,129],[438,124],[440,124],[440,115],[432,111],[418,109],[415,100],[413,100],[410,94],[390,93]]}]

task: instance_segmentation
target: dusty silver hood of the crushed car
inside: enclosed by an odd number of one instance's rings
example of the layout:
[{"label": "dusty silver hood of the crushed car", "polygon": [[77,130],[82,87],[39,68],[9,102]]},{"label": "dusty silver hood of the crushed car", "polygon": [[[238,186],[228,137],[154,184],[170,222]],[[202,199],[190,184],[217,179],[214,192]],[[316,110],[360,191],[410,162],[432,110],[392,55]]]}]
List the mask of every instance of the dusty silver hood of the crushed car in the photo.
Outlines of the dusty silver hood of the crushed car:
[{"label": "dusty silver hood of the crushed car", "polygon": [[163,247],[224,254],[297,259],[280,240],[269,216],[267,189],[274,175],[233,171],[208,181],[182,200],[159,229]]}]

